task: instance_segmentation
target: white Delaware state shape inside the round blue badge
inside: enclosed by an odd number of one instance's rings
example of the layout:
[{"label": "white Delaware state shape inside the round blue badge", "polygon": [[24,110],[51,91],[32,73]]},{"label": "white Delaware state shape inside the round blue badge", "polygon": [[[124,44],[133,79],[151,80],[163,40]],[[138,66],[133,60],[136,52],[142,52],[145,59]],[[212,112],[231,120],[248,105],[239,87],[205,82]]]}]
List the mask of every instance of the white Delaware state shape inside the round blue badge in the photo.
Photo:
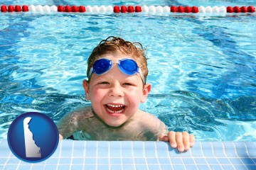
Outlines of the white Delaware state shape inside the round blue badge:
[{"label": "white Delaware state shape inside the round blue badge", "polygon": [[33,133],[28,128],[31,120],[31,117],[23,120],[26,157],[41,157],[41,148],[36,145],[36,142],[33,140]]}]

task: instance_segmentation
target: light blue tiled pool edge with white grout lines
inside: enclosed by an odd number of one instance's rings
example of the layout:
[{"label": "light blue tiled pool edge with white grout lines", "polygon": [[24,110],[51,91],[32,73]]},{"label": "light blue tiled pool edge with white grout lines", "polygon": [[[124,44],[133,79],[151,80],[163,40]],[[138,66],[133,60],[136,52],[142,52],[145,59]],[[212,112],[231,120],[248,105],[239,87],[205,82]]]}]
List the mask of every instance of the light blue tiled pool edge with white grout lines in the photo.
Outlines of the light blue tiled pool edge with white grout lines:
[{"label": "light blue tiled pool edge with white grout lines", "polygon": [[256,142],[196,142],[179,153],[166,142],[63,140],[46,161],[22,162],[0,140],[0,169],[256,169]]}]

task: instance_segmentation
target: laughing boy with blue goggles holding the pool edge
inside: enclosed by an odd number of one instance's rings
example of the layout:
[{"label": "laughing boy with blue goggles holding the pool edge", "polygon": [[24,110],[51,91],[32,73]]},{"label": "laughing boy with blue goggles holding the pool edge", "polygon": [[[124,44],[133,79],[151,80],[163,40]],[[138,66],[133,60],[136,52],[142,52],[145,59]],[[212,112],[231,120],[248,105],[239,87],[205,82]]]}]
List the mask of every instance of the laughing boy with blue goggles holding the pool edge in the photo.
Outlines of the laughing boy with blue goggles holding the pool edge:
[{"label": "laughing boy with blue goggles holding the pool edge", "polygon": [[87,60],[87,78],[82,82],[92,106],[65,115],[58,123],[60,139],[161,140],[179,152],[193,146],[188,132],[168,132],[153,115],[139,110],[151,84],[144,48],[122,38],[102,40]]}]

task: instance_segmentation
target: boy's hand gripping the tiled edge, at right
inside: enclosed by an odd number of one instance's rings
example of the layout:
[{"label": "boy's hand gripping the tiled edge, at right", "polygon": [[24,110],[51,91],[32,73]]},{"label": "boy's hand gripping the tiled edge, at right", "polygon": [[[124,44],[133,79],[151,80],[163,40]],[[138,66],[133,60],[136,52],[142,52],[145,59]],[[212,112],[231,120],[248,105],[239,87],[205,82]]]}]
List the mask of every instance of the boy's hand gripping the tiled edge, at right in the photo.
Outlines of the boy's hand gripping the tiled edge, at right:
[{"label": "boy's hand gripping the tiled edge, at right", "polygon": [[193,147],[195,144],[195,136],[189,135],[188,132],[174,132],[168,133],[168,136],[159,138],[161,141],[170,142],[172,148],[177,148],[178,152],[184,152]]}]

